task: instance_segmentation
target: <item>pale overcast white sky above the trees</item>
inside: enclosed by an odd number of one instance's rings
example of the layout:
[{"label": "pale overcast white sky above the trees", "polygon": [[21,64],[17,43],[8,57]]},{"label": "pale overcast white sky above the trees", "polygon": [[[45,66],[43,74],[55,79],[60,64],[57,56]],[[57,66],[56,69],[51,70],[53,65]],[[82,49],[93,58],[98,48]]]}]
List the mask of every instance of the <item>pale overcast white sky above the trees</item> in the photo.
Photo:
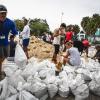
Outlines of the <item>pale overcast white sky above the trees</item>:
[{"label": "pale overcast white sky above the trees", "polygon": [[10,19],[46,19],[50,30],[58,28],[62,22],[77,24],[83,17],[100,14],[100,0],[0,0],[8,9]]}]

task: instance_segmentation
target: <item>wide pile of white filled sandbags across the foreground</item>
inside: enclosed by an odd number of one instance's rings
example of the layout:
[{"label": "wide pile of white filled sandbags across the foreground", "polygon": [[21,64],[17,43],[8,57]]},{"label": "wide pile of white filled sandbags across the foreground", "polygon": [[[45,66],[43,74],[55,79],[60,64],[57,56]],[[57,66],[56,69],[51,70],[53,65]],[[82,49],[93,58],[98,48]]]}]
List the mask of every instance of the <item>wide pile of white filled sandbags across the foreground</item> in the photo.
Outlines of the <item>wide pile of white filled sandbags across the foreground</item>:
[{"label": "wide pile of white filled sandbags across the foreground", "polygon": [[27,64],[26,57],[18,54],[16,51],[14,62],[3,64],[6,77],[0,82],[0,100],[47,100],[56,94],[66,98],[70,93],[75,100],[86,100],[89,90],[100,95],[100,64],[94,60],[82,61],[80,66],[62,66],[56,75],[56,65],[50,60],[40,62],[33,57]]}]

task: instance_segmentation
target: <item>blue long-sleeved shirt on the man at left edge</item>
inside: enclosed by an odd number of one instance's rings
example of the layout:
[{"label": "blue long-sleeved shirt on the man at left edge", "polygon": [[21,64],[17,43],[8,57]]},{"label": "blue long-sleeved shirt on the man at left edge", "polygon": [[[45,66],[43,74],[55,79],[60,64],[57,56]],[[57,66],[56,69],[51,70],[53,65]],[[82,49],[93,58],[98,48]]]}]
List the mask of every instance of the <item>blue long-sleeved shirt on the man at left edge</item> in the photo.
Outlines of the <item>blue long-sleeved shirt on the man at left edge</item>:
[{"label": "blue long-sleeved shirt on the man at left edge", "polygon": [[[6,18],[4,22],[2,22],[3,26],[2,29],[0,30],[0,46],[7,46],[9,44],[8,42],[8,35],[11,32],[13,35],[17,35],[17,29],[15,26],[15,23]],[[1,39],[1,37],[4,36],[5,38]]]}]

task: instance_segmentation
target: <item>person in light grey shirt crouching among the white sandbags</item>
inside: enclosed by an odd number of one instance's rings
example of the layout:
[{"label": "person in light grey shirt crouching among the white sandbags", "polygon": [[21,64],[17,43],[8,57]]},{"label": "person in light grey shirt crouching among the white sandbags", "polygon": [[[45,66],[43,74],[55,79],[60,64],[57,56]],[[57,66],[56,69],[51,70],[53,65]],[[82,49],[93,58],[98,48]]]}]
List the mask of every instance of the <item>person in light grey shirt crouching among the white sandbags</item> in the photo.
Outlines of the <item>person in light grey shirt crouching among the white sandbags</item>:
[{"label": "person in light grey shirt crouching among the white sandbags", "polygon": [[81,64],[80,53],[77,48],[73,47],[73,42],[66,42],[66,55],[63,55],[63,64],[68,63],[71,66],[79,66]]}]

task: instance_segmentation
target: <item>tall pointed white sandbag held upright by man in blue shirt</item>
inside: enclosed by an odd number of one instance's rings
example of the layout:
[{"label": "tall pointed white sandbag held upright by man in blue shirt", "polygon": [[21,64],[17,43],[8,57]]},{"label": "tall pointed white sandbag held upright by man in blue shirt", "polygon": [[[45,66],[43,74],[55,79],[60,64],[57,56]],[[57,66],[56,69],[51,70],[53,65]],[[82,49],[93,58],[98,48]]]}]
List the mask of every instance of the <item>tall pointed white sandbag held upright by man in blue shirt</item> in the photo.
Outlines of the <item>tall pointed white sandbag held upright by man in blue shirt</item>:
[{"label": "tall pointed white sandbag held upright by man in blue shirt", "polygon": [[20,69],[25,68],[27,63],[27,57],[19,44],[16,45],[14,61]]}]

